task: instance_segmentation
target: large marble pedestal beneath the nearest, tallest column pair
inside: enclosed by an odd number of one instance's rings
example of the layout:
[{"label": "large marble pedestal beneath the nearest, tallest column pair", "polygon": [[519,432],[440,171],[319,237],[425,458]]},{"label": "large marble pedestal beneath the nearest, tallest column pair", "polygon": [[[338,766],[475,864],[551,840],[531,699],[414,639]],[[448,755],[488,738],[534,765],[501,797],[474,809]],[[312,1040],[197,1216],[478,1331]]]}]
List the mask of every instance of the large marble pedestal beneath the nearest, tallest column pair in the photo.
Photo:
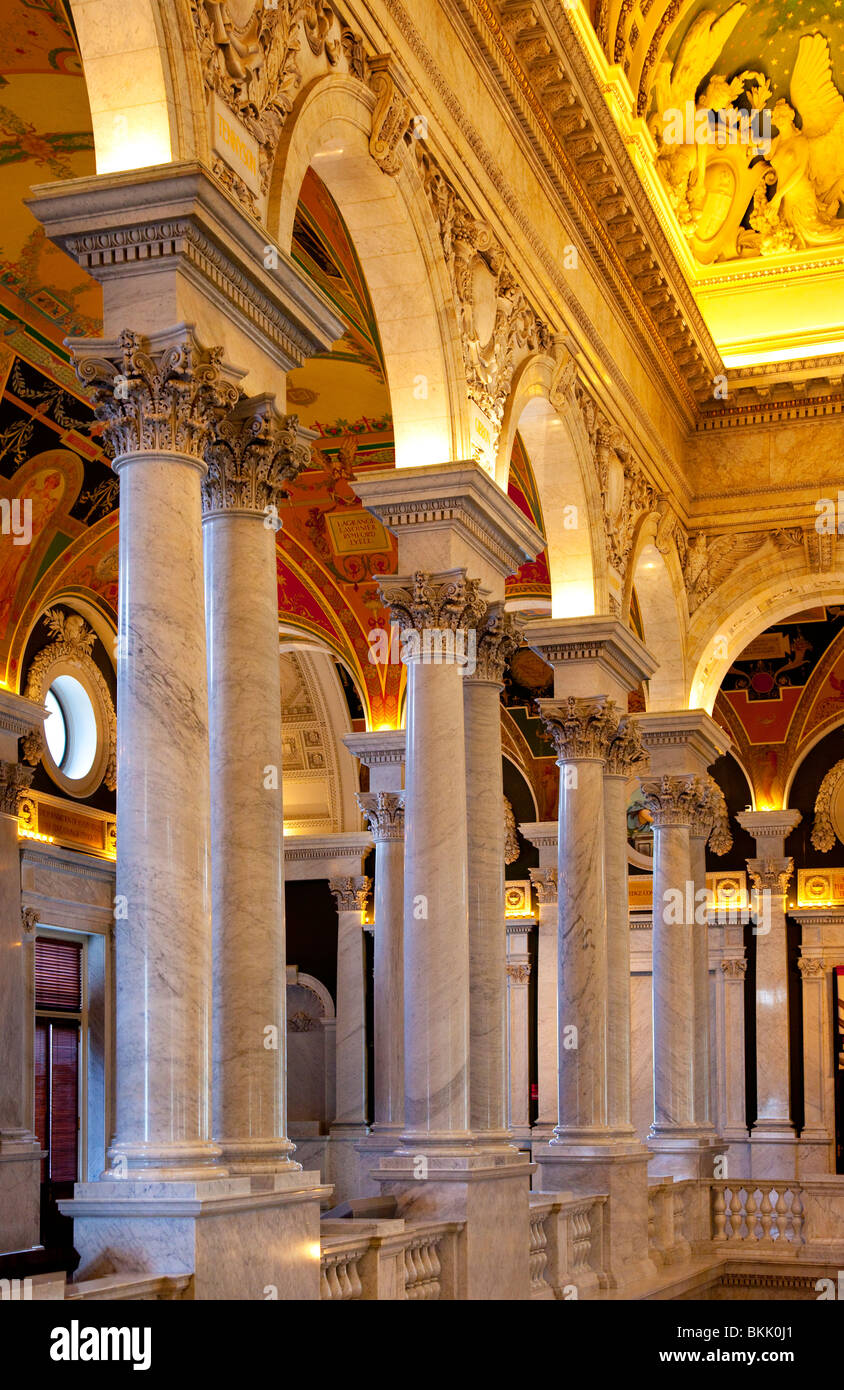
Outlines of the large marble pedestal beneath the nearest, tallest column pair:
[{"label": "large marble pedestal beneath the nearest, tallest column pair", "polygon": [[76,1183],[76,1280],[111,1273],[193,1275],[195,1300],[317,1300],[318,1173],[204,1183]]}]

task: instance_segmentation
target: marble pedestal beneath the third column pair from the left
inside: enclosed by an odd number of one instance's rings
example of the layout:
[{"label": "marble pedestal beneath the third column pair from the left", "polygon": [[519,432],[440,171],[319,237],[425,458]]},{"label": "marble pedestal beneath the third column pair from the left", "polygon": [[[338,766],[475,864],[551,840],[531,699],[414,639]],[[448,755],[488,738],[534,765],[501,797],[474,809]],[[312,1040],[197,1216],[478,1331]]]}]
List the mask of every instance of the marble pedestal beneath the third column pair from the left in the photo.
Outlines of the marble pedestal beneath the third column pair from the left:
[{"label": "marble pedestal beneath the third column pair from the left", "polygon": [[534,1144],[538,1175],[534,1191],[570,1191],[576,1197],[602,1193],[603,1268],[610,1289],[652,1279],[648,1254],[648,1151],[642,1144]]}]

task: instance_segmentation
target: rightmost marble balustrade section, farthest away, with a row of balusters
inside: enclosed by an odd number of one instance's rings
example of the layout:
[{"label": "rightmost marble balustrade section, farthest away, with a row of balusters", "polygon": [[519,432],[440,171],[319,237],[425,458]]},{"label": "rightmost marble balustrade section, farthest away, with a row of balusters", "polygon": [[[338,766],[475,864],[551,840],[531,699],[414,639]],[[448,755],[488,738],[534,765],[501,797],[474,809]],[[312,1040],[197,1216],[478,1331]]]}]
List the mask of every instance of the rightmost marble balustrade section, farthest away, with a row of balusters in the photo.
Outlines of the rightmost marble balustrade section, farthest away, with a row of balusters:
[{"label": "rightmost marble balustrade section, farthest away, with a row of balusters", "polygon": [[805,1244],[802,1188],[793,1180],[712,1183],[712,1240],[793,1251]]}]

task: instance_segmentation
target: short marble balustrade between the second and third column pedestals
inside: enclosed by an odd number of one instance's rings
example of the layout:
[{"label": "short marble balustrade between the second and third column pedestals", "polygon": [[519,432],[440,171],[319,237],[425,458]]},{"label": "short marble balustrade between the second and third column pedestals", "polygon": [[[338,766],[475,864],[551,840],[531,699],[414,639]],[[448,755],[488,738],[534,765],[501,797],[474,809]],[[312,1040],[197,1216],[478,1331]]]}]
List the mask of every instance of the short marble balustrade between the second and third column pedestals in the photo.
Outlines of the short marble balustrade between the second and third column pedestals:
[{"label": "short marble balustrade between the second and third column pedestals", "polygon": [[594,1298],[606,1287],[606,1197],[530,1194],[531,1298]]}]

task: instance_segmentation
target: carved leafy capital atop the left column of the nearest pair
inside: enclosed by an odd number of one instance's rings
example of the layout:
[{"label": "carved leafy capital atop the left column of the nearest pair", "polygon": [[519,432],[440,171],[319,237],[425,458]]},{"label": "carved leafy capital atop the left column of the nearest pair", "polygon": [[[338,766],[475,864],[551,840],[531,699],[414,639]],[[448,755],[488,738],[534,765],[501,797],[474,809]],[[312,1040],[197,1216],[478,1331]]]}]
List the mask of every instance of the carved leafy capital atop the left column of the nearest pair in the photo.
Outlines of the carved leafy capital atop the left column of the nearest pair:
[{"label": "carved leafy capital atop the left column of the nearest pair", "polygon": [[236,386],[222,371],[222,348],[203,349],[181,331],[153,350],[140,334],[127,329],[102,356],[76,348],[76,377],[118,460],[131,453],[184,453],[203,459],[214,428],[238,400]]}]

